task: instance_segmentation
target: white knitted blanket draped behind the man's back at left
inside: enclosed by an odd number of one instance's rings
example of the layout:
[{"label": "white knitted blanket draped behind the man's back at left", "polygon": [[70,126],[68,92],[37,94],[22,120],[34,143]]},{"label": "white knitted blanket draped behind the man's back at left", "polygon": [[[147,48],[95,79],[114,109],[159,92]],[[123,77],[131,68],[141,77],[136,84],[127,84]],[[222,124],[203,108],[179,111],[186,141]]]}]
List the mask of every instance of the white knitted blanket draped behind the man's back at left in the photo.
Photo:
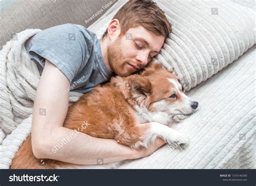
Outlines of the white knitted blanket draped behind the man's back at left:
[{"label": "white knitted blanket draped behind the man's back at left", "polygon": [[[39,31],[28,29],[17,33],[0,51],[0,169],[9,168],[31,132],[33,100],[40,74],[26,53],[24,42]],[[71,91],[69,104],[81,95]]]}]

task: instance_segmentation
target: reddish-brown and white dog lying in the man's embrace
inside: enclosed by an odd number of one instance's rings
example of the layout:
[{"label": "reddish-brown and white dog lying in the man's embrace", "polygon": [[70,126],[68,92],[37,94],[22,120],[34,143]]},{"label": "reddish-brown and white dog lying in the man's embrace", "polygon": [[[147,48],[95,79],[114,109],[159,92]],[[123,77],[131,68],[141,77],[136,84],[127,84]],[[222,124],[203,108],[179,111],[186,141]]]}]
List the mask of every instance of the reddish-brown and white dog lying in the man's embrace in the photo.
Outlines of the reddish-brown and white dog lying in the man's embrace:
[{"label": "reddish-brown and white dog lying in the man's embrace", "polygon": [[[197,106],[198,102],[184,94],[174,74],[159,63],[151,62],[140,75],[112,77],[110,82],[80,97],[69,107],[64,127],[77,130],[86,122],[81,132],[92,137],[115,139],[132,148],[147,147],[157,137],[185,148],[188,139],[167,125],[185,119]],[[19,148],[10,168],[91,167],[56,160],[45,160],[42,164],[33,155],[30,135]]]}]

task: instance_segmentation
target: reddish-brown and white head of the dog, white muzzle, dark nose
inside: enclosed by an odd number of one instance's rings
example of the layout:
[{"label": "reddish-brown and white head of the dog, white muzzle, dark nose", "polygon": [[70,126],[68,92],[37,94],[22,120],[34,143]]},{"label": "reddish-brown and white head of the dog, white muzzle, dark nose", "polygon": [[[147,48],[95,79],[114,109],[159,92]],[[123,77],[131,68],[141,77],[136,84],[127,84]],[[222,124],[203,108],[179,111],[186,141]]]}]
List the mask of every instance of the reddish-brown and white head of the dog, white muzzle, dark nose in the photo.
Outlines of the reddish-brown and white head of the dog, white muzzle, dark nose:
[{"label": "reddish-brown and white head of the dog, white muzzle, dark nose", "polygon": [[131,75],[126,81],[131,99],[149,111],[188,116],[198,107],[198,102],[184,94],[177,76],[159,63],[151,62],[141,75]]}]

